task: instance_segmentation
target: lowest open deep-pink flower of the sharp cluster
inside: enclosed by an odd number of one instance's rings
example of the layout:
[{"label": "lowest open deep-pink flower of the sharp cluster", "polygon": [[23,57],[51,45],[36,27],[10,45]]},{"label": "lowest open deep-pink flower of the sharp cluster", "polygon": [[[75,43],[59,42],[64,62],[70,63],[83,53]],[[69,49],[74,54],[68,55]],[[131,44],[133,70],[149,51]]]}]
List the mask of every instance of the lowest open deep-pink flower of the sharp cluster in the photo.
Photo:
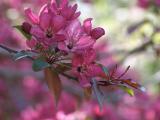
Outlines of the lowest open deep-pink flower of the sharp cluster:
[{"label": "lowest open deep-pink flower of the sharp cluster", "polygon": [[102,73],[101,68],[94,62],[95,59],[96,53],[93,49],[73,56],[72,71],[78,77],[82,87],[90,86],[92,77],[97,77]]}]

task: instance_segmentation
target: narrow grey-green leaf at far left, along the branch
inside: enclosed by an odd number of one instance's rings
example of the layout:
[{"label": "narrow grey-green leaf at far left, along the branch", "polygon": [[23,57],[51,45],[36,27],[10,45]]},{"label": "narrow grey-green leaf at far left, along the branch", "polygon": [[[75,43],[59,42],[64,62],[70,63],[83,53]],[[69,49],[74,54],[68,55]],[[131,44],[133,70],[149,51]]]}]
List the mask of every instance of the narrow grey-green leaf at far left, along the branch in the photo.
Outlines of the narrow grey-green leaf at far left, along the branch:
[{"label": "narrow grey-green leaf at far left, along the branch", "polygon": [[36,56],[36,54],[31,51],[20,51],[13,56],[13,59],[17,61],[26,57],[32,58],[33,56]]}]

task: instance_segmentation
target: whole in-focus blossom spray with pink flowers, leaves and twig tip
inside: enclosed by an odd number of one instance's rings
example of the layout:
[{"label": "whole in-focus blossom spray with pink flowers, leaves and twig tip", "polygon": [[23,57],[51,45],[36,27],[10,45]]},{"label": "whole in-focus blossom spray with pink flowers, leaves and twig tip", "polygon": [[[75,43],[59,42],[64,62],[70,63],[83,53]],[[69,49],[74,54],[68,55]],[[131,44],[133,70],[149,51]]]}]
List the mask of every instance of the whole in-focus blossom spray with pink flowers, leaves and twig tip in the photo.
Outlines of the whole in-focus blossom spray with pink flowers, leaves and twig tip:
[{"label": "whole in-focus blossom spray with pink flowers, leaves and twig tip", "polygon": [[[58,100],[61,93],[59,75],[78,81],[85,94],[91,94],[91,89],[98,99],[101,96],[99,86],[121,86],[130,95],[128,88],[141,89],[141,86],[131,79],[122,79],[128,71],[115,76],[108,68],[97,60],[96,41],[105,31],[101,27],[92,26],[92,18],[87,18],[81,24],[77,12],[77,4],[71,6],[68,0],[51,0],[45,4],[38,15],[30,8],[25,9],[27,21],[15,26],[27,38],[26,44],[30,50],[16,53],[19,60],[24,57],[33,60],[33,70],[44,70],[49,88]],[[69,73],[69,74],[68,74]]]}]

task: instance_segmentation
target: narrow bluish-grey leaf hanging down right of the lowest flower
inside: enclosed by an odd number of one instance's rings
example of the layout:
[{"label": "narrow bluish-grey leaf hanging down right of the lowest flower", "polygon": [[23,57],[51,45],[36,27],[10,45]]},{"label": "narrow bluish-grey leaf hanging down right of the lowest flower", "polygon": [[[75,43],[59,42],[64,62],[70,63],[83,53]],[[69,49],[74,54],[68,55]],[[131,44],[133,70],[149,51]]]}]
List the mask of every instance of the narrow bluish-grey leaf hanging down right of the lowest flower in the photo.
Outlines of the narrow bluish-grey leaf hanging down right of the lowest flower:
[{"label": "narrow bluish-grey leaf hanging down right of the lowest flower", "polygon": [[96,95],[96,98],[98,100],[100,110],[102,110],[104,96],[103,96],[103,93],[100,91],[95,79],[92,79],[92,89],[93,89],[94,94]]}]

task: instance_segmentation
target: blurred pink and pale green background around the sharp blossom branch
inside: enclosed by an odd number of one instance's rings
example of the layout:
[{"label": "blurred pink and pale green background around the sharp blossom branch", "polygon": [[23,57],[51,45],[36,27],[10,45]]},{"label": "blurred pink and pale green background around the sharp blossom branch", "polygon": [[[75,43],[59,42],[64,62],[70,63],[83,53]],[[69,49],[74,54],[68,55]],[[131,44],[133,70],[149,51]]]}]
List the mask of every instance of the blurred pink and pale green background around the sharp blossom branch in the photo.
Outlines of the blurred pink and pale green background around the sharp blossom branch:
[{"label": "blurred pink and pale green background around the sharp blossom branch", "polygon": [[[38,12],[48,0],[0,0],[0,44],[28,49],[25,38],[12,26],[24,22],[24,8]],[[0,120],[160,120],[160,0],[71,0],[81,20],[94,18],[106,35],[95,46],[106,66],[130,65],[126,77],[141,83],[146,92],[131,97],[106,88],[102,110],[93,98],[84,99],[74,82],[63,78],[57,107],[44,81],[33,72],[31,61],[13,61],[0,48]],[[74,87],[70,87],[74,86]]]}]

